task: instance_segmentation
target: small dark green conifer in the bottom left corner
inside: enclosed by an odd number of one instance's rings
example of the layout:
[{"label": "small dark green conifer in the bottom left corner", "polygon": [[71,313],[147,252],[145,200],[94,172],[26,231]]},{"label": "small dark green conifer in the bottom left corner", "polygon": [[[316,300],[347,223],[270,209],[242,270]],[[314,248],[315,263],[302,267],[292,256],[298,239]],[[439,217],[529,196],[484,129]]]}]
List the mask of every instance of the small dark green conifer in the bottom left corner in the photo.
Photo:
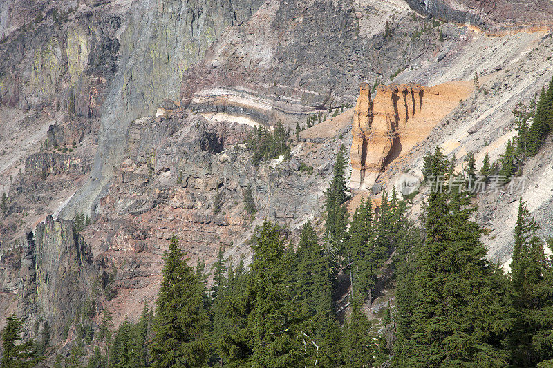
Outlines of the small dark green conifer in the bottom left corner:
[{"label": "small dark green conifer in the bottom left corner", "polygon": [[2,331],[2,359],[1,368],[34,367],[42,358],[35,350],[35,342],[23,342],[21,337],[21,322],[15,314],[6,318],[6,327]]}]

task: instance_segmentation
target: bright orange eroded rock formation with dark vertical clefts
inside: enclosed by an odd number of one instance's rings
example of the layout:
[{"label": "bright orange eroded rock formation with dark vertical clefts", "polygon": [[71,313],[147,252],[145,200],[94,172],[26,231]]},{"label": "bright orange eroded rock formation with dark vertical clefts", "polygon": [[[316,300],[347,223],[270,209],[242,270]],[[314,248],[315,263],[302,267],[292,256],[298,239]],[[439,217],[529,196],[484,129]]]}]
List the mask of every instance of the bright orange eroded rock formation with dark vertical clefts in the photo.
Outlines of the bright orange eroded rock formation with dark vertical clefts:
[{"label": "bright orange eroded rock formation with dark vertical clefts", "polygon": [[353,114],[351,187],[371,188],[386,165],[422,142],[435,124],[470,93],[467,84],[362,84]]}]

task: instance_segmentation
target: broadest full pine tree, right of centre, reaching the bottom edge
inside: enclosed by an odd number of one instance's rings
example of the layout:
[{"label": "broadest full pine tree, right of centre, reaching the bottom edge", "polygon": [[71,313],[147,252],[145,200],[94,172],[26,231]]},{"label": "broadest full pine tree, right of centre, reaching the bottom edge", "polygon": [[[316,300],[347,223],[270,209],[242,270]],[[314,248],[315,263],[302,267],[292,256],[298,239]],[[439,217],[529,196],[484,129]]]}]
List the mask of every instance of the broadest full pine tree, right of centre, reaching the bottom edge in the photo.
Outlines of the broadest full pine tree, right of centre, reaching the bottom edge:
[{"label": "broadest full pine tree, right of centre, reaching the bottom edge", "polygon": [[474,208],[469,203],[458,191],[427,197],[424,244],[413,275],[412,318],[403,320],[410,322],[402,327],[408,335],[402,336],[397,351],[406,367],[505,365],[505,284],[496,267],[485,261],[481,230],[470,220]]}]

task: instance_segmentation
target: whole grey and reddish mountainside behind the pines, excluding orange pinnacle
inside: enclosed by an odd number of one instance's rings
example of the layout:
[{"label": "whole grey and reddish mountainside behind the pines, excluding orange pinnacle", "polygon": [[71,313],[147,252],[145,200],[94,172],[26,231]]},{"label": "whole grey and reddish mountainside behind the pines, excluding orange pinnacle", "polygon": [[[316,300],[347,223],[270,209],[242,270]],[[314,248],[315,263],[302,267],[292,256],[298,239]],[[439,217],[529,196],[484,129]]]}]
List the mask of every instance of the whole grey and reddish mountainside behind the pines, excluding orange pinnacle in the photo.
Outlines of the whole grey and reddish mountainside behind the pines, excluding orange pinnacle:
[{"label": "whole grey and reddish mountainside behind the pines, excluding orange pinnacle", "polygon": [[[65,326],[52,311],[76,314],[92,296],[118,325],[155,298],[172,234],[193,262],[209,265],[219,246],[249,262],[247,240],[265,217],[291,239],[308,218],[320,227],[332,162],[352,144],[348,107],[362,82],[375,100],[386,92],[377,84],[390,81],[463,86],[440,95],[447,109],[420,122],[424,134],[379,168],[377,184],[420,175],[435,145],[459,168],[468,151],[478,162],[486,151],[496,159],[515,134],[512,108],[553,77],[551,19],[548,0],[1,3],[0,194],[9,201],[0,215],[0,305],[26,314],[30,336],[39,333],[35,320],[59,333]],[[252,164],[243,146],[252,126],[295,128],[315,113],[326,120],[293,139],[292,159]],[[477,198],[494,260],[510,256],[518,195],[552,232],[551,145],[527,162],[522,192]],[[254,215],[244,211],[247,188]],[[419,204],[420,195],[414,219]],[[92,220],[81,235],[47,217],[81,211]],[[59,256],[39,262],[46,255],[35,249],[56,244]],[[65,288],[78,298],[68,304],[51,289],[64,262],[79,265],[75,289]]]}]

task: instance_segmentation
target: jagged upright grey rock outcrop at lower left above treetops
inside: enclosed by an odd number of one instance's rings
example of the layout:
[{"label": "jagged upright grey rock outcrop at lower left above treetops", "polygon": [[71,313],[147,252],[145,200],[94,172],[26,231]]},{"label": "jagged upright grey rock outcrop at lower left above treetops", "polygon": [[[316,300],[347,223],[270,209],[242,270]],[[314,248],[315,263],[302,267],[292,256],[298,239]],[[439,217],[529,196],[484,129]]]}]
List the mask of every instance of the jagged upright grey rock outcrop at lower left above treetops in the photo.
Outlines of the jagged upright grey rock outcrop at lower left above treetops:
[{"label": "jagged upright grey rock outcrop at lower left above treetops", "polygon": [[34,235],[28,233],[23,242],[4,249],[0,272],[1,292],[17,296],[8,309],[24,317],[26,332],[35,337],[48,322],[55,340],[71,326],[84,301],[97,298],[93,284],[102,290],[106,282],[102,259],[93,260],[73,222],[50,216]]}]

